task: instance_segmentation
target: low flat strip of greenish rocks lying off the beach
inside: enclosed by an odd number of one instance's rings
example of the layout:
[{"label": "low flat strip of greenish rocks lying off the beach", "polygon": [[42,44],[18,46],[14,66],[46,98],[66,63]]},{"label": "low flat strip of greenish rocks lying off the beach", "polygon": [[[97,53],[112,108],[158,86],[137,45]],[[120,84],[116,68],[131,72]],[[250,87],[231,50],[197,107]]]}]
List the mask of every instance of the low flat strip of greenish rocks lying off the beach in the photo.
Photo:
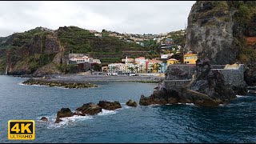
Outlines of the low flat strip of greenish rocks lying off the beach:
[{"label": "low flat strip of greenish rocks lying off the beach", "polygon": [[69,89],[97,87],[96,85],[91,84],[89,82],[87,82],[87,83],[50,82],[50,81],[47,81],[46,79],[34,79],[34,78],[30,78],[22,83],[26,84],[26,85],[43,85],[43,86],[50,86],[50,87],[57,86],[57,87],[64,87],[64,88],[69,88]]}]

